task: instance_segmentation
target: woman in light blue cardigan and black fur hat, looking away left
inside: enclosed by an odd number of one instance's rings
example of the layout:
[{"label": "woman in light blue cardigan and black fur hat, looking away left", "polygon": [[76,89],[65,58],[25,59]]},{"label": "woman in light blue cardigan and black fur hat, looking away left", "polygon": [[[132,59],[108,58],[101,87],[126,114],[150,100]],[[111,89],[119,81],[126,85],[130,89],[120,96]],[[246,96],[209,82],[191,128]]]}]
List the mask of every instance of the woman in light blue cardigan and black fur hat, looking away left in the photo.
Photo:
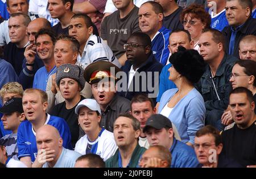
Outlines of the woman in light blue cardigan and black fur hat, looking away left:
[{"label": "woman in light blue cardigan and black fur hat, looking away left", "polygon": [[193,49],[179,46],[170,57],[169,80],[177,88],[164,92],[160,99],[158,113],[167,116],[179,132],[181,141],[193,145],[196,132],[204,127],[205,105],[202,95],[193,84],[199,81],[205,71],[203,57]]}]

